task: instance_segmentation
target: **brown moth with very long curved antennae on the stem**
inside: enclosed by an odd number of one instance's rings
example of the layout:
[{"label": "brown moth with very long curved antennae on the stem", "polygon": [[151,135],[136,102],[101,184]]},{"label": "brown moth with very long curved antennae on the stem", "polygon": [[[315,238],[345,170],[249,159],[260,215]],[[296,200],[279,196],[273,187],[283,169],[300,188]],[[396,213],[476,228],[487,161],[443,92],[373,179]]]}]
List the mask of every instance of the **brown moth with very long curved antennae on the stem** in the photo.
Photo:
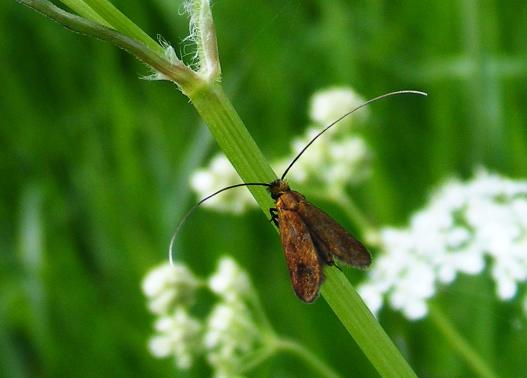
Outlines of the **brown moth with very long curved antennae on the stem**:
[{"label": "brown moth with very long curved antennae on the stem", "polygon": [[334,265],[335,260],[356,268],[367,268],[371,263],[371,256],[366,247],[328,214],[309,203],[302,194],[291,190],[285,181],[285,176],[309,146],[342,119],[372,102],[400,94],[426,96],[426,93],[423,92],[403,90],[386,93],[368,100],[315,135],[293,159],[279,179],[271,183],[254,182],[231,185],[203,198],[187,212],[178,224],[170,242],[170,262],[172,263],[173,243],[181,225],[200,204],[221,192],[240,186],[265,186],[275,201],[275,207],[269,209],[269,213],[271,221],[279,229],[291,283],[298,298],[306,303],[311,303],[318,297],[324,281],[324,266]]}]

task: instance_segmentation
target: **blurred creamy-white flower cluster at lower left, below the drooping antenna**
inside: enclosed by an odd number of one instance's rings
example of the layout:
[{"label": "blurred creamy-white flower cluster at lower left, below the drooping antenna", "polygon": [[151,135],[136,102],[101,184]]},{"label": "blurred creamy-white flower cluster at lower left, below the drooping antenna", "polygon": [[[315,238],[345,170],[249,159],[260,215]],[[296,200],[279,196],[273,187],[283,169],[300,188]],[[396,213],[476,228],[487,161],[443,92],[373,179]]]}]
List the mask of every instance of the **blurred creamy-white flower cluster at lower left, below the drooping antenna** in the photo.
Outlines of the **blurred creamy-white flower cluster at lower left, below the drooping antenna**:
[{"label": "blurred creamy-white flower cluster at lower left, below the drooping antenna", "polygon": [[190,368],[204,354],[216,377],[233,377],[273,331],[255,319],[256,294],[247,273],[233,259],[222,258],[206,282],[218,301],[206,318],[197,318],[191,315],[191,304],[205,281],[181,264],[165,264],[147,274],[143,291],[158,316],[149,349],[158,358],[173,356],[180,369]]}]

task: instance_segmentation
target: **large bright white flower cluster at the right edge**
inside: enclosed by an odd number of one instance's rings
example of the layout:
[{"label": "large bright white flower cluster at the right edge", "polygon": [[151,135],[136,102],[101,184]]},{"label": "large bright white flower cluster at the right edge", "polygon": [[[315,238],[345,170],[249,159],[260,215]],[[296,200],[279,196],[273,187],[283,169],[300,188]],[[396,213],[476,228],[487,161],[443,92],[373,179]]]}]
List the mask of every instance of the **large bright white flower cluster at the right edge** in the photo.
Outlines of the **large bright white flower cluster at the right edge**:
[{"label": "large bright white flower cluster at the right edge", "polygon": [[486,262],[498,298],[509,300],[527,280],[527,181],[485,171],[450,180],[407,228],[384,228],[381,239],[384,254],[359,288],[373,312],[385,299],[407,318],[422,318],[438,285],[478,274]]}]

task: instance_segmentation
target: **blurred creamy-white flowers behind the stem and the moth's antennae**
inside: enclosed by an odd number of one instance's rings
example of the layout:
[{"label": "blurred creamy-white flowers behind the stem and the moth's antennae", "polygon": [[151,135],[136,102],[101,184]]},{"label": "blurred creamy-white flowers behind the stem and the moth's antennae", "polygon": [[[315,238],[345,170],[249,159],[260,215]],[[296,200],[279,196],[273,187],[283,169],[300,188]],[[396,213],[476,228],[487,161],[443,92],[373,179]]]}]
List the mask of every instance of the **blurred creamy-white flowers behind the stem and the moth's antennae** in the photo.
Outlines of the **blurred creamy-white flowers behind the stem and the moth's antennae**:
[{"label": "blurred creamy-white flowers behind the stem and the moth's antennae", "polygon": [[[330,88],[315,93],[311,99],[310,116],[316,126],[309,127],[303,136],[292,141],[289,156],[273,164],[277,168],[276,172],[283,172],[324,126],[362,103],[364,100],[350,88]],[[291,180],[342,190],[346,185],[357,184],[367,178],[370,151],[364,139],[353,132],[353,127],[350,128],[366,115],[366,109],[361,109],[341,121],[347,125],[338,125],[328,130],[327,135],[321,136],[289,172]],[[191,177],[191,186],[200,198],[238,183],[241,183],[240,178],[223,154],[216,155],[207,168],[198,170]],[[212,197],[204,206],[239,214],[256,207],[256,202],[247,189],[240,188]]]}]

